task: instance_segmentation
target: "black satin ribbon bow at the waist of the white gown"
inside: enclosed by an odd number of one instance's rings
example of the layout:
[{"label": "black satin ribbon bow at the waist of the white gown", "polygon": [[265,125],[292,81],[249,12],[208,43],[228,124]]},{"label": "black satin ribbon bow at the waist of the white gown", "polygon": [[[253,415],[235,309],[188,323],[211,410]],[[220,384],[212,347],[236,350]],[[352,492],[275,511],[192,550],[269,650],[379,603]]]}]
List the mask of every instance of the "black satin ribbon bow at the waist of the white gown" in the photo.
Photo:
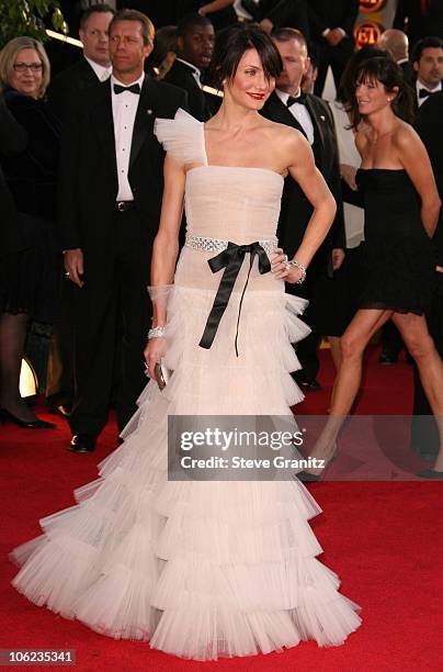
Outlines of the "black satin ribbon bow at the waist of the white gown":
[{"label": "black satin ribbon bow at the waist of the white gown", "polygon": [[238,309],[237,317],[237,332],[236,332],[236,355],[238,357],[238,326],[240,324],[240,313],[243,303],[246,288],[248,287],[249,276],[251,275],[252,264],[255,255],[259,257],[259,272],[261,275],[269,273],[271,270],[271,264],[266,253],[260,243],[251,243],[250,245],[236,245],[235,243],[228,243],[228,247],[224,249],[219,255],[208,259],[208,265],[213,273],[225,269],[216,296],[214,299],[213,307],[211,309],[209,316],[206,322],[205,331],[203,332],[200,346],[202,348],[209,349],[213,345],[215,335],[217,333],[220,320],[229,302],[229,298],[232,293],[234,284],[237,280],[237,276],[240,272],[241,265],[247,254],[250,254],[249,270],[243,291],[241,292],[240,305]]}]

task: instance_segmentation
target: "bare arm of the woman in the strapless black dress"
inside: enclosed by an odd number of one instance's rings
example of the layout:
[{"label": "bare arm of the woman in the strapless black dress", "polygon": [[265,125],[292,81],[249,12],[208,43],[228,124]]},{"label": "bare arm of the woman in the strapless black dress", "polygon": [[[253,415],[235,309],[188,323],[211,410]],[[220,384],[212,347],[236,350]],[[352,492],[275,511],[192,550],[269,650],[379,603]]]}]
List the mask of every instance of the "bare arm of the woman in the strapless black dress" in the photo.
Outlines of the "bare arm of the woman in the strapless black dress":
[{"label": "bare arm of the woman in the strapless black dress", "polygon": [[398,157],[421,198],[421,221],[432,238],[439,221],[441,200],[428,152],[416,131],[402,126],[395,135]]}]

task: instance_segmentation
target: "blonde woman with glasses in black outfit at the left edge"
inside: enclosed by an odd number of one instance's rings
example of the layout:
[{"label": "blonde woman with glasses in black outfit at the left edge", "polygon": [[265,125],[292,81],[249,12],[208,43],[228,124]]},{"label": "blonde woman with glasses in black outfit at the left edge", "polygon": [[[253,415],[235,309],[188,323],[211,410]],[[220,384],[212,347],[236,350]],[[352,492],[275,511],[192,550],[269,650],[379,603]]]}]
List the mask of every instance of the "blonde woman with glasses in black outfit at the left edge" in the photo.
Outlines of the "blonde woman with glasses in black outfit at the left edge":
[{"label": "blonde woman with glasses in black outfit at the left edge", "polygon": [[43,97],[49,61],[36,40],[15,37],[0,52],[0,87],[10,113],[26,136],[13,156],[0,156],[16,217],[2,219],[9,240],[0,265],[0,408],[3,419],[21,427],[53,427],[20,397],[19,377],[31,321],[52,323],[56,315],[59,254],[55,235],[59,127]]}]

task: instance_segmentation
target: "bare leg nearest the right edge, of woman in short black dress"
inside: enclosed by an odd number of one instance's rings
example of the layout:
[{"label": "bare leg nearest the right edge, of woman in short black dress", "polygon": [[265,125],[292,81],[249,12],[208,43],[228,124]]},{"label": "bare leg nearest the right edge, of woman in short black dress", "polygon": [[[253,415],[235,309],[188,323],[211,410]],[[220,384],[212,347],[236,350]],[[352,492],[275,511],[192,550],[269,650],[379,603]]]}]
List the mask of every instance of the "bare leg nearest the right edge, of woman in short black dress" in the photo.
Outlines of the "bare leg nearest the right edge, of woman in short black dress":
[{"label": "bare leg nearest the right edge, of woman in short black dress", "polygon": [[421,384],[435,416],[440,435],[440,452],[434,469],[443,471],[443,362],[435,349],[423,315],[396,313],[393,322],[416,360]]}]

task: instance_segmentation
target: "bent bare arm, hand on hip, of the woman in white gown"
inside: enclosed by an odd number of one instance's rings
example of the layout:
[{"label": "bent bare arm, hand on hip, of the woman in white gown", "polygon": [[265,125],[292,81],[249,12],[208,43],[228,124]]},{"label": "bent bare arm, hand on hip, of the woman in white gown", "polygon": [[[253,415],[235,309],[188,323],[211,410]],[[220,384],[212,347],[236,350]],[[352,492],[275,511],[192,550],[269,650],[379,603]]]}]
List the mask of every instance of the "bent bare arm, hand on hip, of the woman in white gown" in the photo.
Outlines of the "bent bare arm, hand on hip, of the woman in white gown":
[{"label": "bent bare arm, hand on hip, of the woman in white gown", "polygon": [[[322,175],[316,168],[309,143],[298,131],[292,131],[291,136],[287,147],[291,156],[288,170],[314,208],[302,244],[294,257],[307,268],[332,225],[337,205]],[[298,269],[291,268],[277,277],[285,278],[288,282],[296,282],[300,275]]]}]

